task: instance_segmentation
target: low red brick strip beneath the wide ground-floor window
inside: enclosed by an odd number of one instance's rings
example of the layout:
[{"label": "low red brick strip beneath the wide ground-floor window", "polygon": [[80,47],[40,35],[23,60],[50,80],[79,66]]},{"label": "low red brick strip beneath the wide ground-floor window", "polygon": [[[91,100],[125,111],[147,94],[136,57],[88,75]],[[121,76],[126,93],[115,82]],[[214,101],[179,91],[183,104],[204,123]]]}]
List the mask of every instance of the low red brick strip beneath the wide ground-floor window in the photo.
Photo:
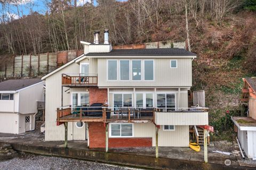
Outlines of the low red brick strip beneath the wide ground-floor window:
[{"label": "low red brick strip beneath the wide ground-floor window", "polygon": [[109,138],[109,148],[152,147],[152,138]]}]

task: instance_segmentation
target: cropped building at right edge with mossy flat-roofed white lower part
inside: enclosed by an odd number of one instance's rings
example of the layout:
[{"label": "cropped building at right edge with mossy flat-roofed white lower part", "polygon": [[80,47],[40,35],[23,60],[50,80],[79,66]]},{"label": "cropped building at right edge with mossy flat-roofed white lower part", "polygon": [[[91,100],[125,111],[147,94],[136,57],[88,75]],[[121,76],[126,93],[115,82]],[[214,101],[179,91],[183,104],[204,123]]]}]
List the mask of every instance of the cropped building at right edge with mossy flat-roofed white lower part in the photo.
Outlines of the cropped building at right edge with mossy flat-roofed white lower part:
[{"label": "cropped building at right edge with mossy flat-roofed white lower part", "polygon": [[243,78],[242,101],[248,106],[244,117],[231,117],[237,137],[248,158],[256,158],[256,78]]}]

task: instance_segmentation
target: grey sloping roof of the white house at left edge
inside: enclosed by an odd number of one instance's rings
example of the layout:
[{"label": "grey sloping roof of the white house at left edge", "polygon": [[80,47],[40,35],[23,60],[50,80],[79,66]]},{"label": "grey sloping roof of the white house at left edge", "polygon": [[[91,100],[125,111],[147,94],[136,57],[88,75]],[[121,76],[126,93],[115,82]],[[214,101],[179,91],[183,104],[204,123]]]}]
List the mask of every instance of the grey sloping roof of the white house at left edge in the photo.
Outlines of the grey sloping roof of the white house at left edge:
[{"label": "grey sloping roof of the white house at left edge", "polygon": [[41,82],[41,79],[15,79],[0,82],[0,91],[16,91],[32,84]]}]

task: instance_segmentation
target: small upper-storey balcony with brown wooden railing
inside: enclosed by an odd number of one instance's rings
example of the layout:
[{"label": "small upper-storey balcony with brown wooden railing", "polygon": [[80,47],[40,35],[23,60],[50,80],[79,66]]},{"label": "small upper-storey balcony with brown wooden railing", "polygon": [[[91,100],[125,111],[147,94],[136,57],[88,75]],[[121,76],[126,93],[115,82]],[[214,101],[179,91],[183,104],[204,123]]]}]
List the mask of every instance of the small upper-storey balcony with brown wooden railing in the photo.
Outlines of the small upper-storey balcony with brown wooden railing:
[{"label": "small upper-storey balcony with brown wooden railing", "polygon": [[98,86],[97,73],[66,73],[62,74],[64,87],[90,87]]}]

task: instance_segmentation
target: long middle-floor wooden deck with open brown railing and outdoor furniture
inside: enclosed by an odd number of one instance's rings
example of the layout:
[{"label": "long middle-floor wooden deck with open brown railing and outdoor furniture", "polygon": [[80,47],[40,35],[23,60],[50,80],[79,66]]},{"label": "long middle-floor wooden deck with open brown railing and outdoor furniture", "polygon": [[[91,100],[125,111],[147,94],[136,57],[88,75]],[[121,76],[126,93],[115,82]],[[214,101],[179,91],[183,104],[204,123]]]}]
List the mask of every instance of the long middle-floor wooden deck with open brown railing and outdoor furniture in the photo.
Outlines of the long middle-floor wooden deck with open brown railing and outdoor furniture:
[{"label": "long middle-floor wooden deck with open brown railing and outdoor furniture", "polygon": [[57,108],[57,125],[64,122],[149,123],[154,122],[154,115],[154,108],[63,106]]}]

